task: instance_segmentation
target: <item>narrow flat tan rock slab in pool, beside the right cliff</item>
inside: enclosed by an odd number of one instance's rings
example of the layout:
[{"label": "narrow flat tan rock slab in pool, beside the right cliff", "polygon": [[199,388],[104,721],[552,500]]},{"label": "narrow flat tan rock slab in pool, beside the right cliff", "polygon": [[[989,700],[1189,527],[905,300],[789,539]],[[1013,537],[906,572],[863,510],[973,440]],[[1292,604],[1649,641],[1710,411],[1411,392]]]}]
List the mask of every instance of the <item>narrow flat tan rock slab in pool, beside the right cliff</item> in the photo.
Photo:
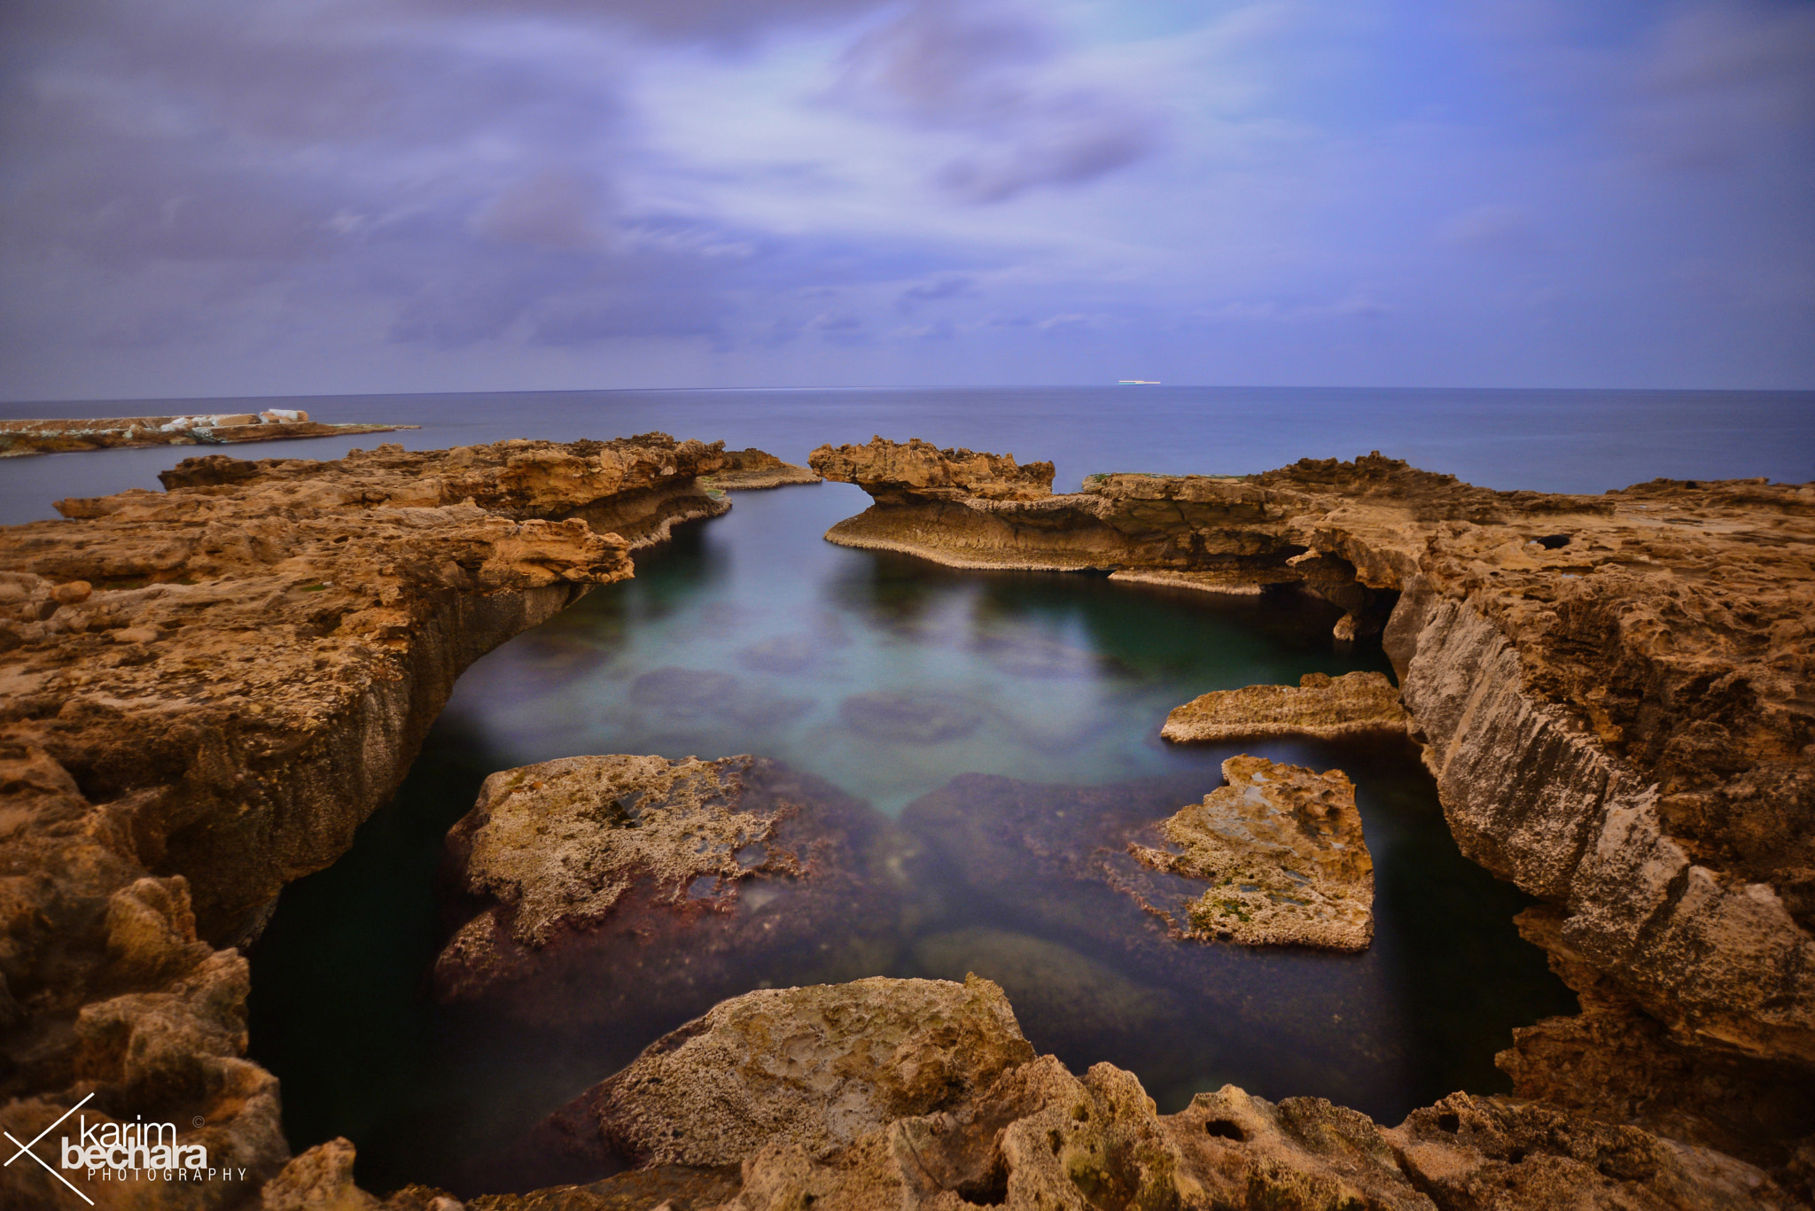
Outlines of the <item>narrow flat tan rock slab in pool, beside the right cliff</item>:
[{"label": "narrow flat tan rock slab in pool, beside the right cliff", "polygon": [[1405,708],[1385,674],[1305,674],[1292,686],[1211,690],[1174,706],[1160,735],[1176,744],[1256,735],[1405,735]]}]

